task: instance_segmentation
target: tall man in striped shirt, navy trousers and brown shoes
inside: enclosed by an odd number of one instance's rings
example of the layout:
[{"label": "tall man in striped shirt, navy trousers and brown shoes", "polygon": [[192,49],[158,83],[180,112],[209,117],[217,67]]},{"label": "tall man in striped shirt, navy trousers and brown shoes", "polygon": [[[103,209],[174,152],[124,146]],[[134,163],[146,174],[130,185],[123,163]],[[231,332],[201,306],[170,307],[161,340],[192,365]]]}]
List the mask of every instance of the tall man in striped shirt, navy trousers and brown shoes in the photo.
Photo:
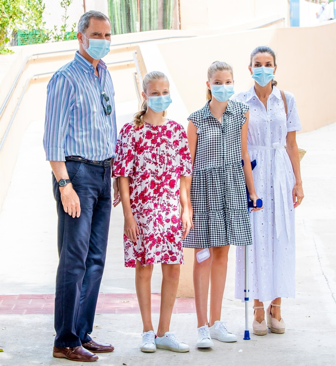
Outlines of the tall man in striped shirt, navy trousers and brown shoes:
[{"label": "tall man in striped shirt, navy trousers and brown shoes", "polygon": [[114,349],[89,336],[106,257],[117,139],[112,79],[101,61],[110,50],[110,20],[86,12],[77,39],[74,60],[48,84],[43,144],[58,211],[53,356],[86,362]]}]

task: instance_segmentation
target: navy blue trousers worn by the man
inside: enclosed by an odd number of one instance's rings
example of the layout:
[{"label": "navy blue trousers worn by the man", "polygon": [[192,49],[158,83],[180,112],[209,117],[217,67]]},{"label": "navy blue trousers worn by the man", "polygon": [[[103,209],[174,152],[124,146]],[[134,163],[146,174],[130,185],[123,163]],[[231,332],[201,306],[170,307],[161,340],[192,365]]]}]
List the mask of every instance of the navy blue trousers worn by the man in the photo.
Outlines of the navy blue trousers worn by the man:
[{"label": "navy blue trousers worn by the man", "polygon": [[58,255],[55,297],[55,346],[76,347],[91,340],[103,276],[111,214],[111,167],[66,161],[80,199],[80,217],[64,212],[55,176]]}]

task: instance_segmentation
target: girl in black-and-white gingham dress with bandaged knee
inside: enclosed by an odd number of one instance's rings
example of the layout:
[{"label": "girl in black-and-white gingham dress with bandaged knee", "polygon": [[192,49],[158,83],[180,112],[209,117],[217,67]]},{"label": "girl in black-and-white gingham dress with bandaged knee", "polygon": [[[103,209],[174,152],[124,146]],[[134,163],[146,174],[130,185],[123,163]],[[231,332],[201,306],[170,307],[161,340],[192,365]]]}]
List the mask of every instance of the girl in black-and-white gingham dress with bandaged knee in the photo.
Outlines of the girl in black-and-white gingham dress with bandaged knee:
[{"label": "girl in black-and-white gingham dress with bandaged knee", "polygon": [[[201,348],[213,347],[211,338],[222,342],[237,340],[221,321],[228,251],[230,244],[252,243],[245,184],[254,206],[258,199],[247,151],[248,106],[229,100],[233,93],[232,67],[215,61],[208,68],[208,101],[188,118],[193,174],[192,179],[186,178],[186,183],[187,192],[191,188],[192,228],[183,246],[195,248],[193,282],[197,347]],[[244,167],[241,160],[245,161]],[[257,210],[256,207],[252,209]]]}]

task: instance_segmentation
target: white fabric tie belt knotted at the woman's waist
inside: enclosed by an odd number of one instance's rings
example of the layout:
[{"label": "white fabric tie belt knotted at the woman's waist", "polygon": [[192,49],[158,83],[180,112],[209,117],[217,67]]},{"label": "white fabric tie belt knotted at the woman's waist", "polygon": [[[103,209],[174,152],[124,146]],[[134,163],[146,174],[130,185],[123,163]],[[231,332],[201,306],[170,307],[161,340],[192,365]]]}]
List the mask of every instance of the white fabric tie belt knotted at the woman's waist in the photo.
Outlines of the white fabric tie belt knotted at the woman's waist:
[{"label": "white fabric tie belt knotted at the woman's waist", "polygon": [[[273,187],[274,187],[274,222],[277,239],[281,231],[283,230],[283,220],[281,217],[281,202],[283,202],[285,210],[285,223],[287,238],[291,236],[291,224],[289,220],[289,207],[288,207],[288,192],[286,185],[286,168],[285,168],[285,153],[286,149],[280,146],[279,142],[274,142],[272,146],[257,146],[247,145],[247,149],[251,150],[275,150],[274,153],[274,175],[273,175]],[[258,161],[257,161],[258,164]]]}]

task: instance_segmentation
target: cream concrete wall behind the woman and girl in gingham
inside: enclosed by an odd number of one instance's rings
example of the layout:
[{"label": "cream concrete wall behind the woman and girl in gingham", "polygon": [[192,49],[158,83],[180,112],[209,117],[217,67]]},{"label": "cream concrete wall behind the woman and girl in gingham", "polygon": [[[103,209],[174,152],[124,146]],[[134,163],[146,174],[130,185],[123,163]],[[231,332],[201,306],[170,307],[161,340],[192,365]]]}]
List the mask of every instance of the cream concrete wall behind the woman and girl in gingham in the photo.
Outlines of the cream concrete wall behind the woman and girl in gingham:
[{"label": "cream concrete wall behind the woman and girl in gingham", "polygon": [[205,104],[207,68],[215,60],[233,66],[236,92],[249,89],[253,85],[250,53],[259,45],[276,51],[275,79],[280,89],[295,95],[303,131],[335,122],[336,68],[331,65],[336,57],[336,21],[310,28],[257,29],[171,41],[159,49],[191,113]]}]

